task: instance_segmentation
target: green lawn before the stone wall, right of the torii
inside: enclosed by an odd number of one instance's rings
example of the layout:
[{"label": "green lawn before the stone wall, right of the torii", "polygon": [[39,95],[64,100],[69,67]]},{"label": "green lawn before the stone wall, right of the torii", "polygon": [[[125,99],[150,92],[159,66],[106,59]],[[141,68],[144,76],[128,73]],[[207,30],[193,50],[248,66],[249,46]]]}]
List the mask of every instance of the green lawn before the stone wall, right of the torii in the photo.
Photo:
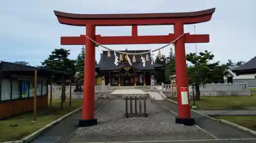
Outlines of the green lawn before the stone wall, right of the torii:
[{"label": "green lawn before the stone wall, right of the torii", "polygon": [[[177,98],[172,100],[177,101]],[[193,104],[193,101],[191,101]],[[202,96],[199,101],[195,101],[197,109],[222,110],[241,109],[243,107],[256,106],[256,95],[251,96]]]}]

